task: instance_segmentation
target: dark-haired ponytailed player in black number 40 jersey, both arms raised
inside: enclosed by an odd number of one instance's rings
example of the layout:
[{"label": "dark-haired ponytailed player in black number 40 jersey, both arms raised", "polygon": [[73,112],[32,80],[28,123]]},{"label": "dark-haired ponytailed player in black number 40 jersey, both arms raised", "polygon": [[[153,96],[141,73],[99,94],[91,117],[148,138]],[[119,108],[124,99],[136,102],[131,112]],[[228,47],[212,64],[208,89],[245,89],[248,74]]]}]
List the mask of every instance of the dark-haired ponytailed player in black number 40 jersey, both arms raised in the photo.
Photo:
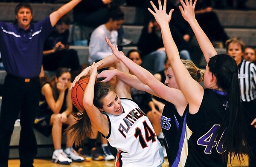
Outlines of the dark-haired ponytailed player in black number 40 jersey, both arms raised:
[{"label": "dark-haired ponytailed player in black number 40 jersey, both arms raised", "polygon": [[167,57],[178,87],[189,104],[183,125],[180,125],[179,149],[171,166],[227,166],[228,155],[230,160],[233,156],[240,158],[244,144],[247,148],[236,62],[228,55],[217,55],[195,19],[196,0],[194,3],[192,0],[180,0],[180,12],[194,31],[207,62],[205,89],[202,88],[180,61],[168,24],[173,10],[166,14],[166,0],[163,7],[160,0],[158,3],[159,9],[151,2],[154,11],[148,10],[161,27]]}]

